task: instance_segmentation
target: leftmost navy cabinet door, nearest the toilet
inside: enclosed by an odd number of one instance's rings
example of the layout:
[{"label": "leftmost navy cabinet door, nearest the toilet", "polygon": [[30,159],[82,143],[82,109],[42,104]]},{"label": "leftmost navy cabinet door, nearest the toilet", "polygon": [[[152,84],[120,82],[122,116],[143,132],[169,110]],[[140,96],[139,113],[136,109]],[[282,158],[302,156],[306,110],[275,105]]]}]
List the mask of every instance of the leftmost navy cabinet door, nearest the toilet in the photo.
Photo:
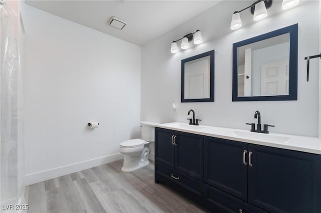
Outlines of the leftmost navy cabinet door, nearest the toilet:
[{"label": "leftmost navy cabinet door, nearest the toilet", "polygon": [[174,168],[174,131],[155,127],[155,160]]}]

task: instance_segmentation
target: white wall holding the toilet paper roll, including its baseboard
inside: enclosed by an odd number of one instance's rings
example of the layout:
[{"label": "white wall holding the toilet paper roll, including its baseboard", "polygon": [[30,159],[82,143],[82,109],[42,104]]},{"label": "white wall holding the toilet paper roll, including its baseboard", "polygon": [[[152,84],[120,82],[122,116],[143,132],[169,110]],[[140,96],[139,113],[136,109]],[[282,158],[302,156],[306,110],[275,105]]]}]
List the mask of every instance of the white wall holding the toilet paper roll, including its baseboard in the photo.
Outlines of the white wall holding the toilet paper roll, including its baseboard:
[{"label": "white wall holding the toilet paper roll, including its baseboard", "polygon": [[119,143],[140,131],[140,47],[25,4],[22,14],[26,184],[122,158]]}]

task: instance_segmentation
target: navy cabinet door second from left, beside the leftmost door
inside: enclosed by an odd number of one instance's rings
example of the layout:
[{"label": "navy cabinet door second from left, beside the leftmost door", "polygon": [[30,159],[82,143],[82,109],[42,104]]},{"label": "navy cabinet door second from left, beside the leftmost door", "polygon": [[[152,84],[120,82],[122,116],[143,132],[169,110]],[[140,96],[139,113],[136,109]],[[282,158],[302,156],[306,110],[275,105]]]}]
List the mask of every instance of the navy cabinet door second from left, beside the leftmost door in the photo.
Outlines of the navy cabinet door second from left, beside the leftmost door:
[{"label": "navy cabinet door second from left, beside the leftmost door", "polygon": [[175,169],[203,181],[204,136],[175,132]]}]

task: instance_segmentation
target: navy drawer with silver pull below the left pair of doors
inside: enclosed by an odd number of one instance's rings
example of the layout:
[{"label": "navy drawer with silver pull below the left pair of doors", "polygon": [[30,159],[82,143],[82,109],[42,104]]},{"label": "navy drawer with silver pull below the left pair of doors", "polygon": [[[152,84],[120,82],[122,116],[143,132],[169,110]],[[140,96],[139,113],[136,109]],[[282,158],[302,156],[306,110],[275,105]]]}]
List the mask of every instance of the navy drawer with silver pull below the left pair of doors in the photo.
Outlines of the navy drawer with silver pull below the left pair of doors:
[{"label": "navy drawer with silver pull below the left pair of doors", "polygon": [[176,186],[185,189],[195,196],[202,196],[204,191],[204,183],[187,177],[181,172],[175,171],[173,168],[163,165],[155,161],[155,174],[170,179]]}]

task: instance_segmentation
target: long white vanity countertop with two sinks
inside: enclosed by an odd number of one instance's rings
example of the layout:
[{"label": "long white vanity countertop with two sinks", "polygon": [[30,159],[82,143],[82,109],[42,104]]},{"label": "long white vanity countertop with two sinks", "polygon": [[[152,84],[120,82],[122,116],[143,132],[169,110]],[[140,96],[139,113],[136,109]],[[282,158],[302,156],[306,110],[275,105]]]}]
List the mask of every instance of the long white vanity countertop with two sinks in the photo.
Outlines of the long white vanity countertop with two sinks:
[{"label": "long white vanity countertop with two sinks", "polygon": [[188,123],[180,122],[162,123],[156,124],[155,126],[258,145],[266,145],[276,148],[321,154],[321,140],[318,137],[277,133],[266,134],[251,132],[250,130],[243,129],[224,128],[207,125],[189,125]]}]

